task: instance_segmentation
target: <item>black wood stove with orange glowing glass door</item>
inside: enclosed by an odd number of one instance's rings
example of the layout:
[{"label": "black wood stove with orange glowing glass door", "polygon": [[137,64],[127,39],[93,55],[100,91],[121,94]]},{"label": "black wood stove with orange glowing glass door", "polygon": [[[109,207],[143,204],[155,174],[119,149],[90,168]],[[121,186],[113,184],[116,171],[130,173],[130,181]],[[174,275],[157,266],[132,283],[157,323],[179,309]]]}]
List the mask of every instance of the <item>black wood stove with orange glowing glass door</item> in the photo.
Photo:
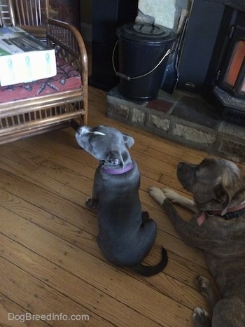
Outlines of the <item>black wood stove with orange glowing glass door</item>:
[{"label": "black wood stove with orange glowing glass door", "polygon": [[245,125],[245,6],[225,4],[205,81],[226,120]]}]

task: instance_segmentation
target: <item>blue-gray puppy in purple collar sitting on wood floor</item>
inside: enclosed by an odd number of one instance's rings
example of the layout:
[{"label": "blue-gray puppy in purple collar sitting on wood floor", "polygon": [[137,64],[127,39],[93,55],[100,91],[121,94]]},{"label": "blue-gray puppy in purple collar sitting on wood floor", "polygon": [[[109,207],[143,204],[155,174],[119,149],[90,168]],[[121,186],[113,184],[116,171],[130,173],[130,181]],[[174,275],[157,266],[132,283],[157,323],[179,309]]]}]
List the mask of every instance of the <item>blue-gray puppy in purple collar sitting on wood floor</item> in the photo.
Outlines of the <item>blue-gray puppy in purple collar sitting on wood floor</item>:
[{"label": "blue-gray puppy in purple collar sitting on wood floor", "polygon": [[106,260],[144,276],[158,274],[167,265],[167,252],[154,266],[142,265],[155,242],[157,224],[141,210],[140,174],[128,151],[134,139],[113,127],[79,127],[79,146],[99,160],[92,197],[86,205],[97,208],[97,243]]}]

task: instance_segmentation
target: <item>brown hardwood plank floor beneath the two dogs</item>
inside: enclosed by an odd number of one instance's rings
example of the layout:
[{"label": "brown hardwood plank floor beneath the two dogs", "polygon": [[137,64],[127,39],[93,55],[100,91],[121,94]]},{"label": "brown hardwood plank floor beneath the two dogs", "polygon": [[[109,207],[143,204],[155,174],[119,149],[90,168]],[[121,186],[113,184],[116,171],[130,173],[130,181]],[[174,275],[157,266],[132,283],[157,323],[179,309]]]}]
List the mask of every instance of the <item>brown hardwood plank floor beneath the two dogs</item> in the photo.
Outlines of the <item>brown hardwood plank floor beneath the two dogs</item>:
[{"label": "brown hardwood plank floor beneath the two dogs", "polygon": [[[194,282],[197,274],[211,279],[202,252],[183,244],[148,188],[170,186],[185,193],[176,165],[209,154],[106,118],[106,92],[90,87],[89,125],[99,124],[134,137],[130,153],[141,172],[142,207],[158,223],[145,262],[157,263],[164,246],[169,263],[156,276],[140,277],[103,258],[95,238],[96,213],[85,208],[97,161],[78,148],[73,130],[3,145],[1,326],[190,327],[195,306],[208,310]],[[186,219],[191,216],[178,210]]]}]

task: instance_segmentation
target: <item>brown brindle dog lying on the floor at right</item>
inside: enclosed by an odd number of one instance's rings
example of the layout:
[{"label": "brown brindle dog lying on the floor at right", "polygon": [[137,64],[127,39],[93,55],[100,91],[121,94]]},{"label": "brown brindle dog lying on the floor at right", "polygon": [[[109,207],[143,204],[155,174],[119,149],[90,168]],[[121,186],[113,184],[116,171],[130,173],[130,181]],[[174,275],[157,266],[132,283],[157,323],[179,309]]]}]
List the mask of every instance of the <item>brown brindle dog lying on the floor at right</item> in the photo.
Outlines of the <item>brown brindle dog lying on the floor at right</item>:
[{"label": "brown brindle dog lying on the floor at right", "polygon": [[[222,298],[199,276],[197,286],[207,298],[212,317],[200,307],[193,312],[196,326],[245,326],[245,176],[234,163],[207,158],[199,165],[180,162],[177,176],[194,201],[168,188],[151,187],[150,194],[167,211],[183,242],[204,250],[207,265]],[[172,205],[195,212],[186,222]]]}]

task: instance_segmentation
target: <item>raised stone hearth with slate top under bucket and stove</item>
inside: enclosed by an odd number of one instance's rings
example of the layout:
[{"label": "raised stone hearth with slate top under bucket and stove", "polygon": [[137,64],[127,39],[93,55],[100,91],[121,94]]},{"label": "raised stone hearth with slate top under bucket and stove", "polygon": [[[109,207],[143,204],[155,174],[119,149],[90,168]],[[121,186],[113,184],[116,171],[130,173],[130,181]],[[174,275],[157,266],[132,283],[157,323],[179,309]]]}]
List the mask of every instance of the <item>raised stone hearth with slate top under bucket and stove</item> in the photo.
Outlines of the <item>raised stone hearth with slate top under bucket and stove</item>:
[{"label": "raised stone hearth with slate top under bucket and stove", "polygon": [[150,102],[132,102],[116,86],[107,93],[110,118],[139,127],[160,137],[186,144],[223,158],[245,162],[245,127],[218,116],[199,95],[160,90]]}]

